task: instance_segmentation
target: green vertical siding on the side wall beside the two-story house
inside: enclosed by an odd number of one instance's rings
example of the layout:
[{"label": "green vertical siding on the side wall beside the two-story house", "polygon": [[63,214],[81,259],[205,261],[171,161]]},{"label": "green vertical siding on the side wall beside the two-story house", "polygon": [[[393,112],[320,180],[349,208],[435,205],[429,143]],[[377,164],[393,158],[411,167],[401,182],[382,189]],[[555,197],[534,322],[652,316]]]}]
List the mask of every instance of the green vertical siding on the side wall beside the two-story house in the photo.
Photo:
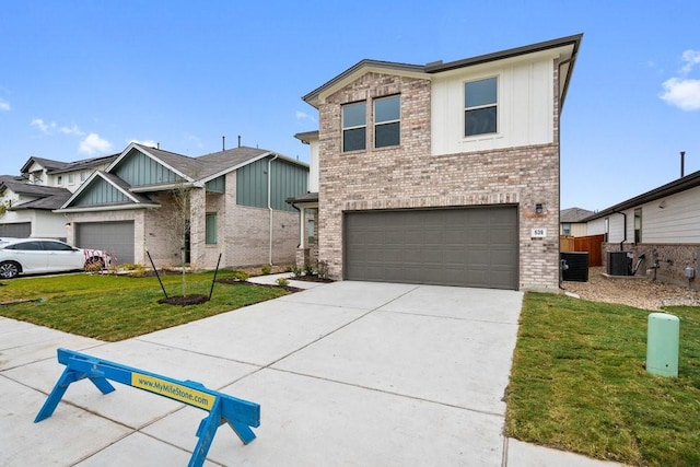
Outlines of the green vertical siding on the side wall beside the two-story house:
[{"label": "green vertical siding on the side wall beside the two-story house", "polygon": [[[254,208],[268,207],[268,161],[260,159],[236,171],[236,203]],[[287,198],[306,192],[308,186],[308,171],[305,167],[275,160],[271,163],[271,206],[281,211],[295,211],[285,202]]]}]

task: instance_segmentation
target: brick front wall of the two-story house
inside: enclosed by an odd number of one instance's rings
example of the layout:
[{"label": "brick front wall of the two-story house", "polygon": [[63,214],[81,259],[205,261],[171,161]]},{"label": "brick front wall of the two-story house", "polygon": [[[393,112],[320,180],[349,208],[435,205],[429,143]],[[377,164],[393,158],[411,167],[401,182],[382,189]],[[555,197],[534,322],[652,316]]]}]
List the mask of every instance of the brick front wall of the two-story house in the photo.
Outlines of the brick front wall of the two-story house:
[{"label": "brick front wall of the two-story house", "polygon": [[[341,104],[397,93],[401,95],[400,147],[342,153]],[[552,144],[431,155],[430,81],[368,73],[329,96],[319,107],[318,255],[328,262],[330,277],[342,278],[346,210],[517,205],[521,289],[557,289],[557,108],[555,102]],[[368,141],[373,141],[372,125],[368,133]],[[535,205],[539,202],[545,212],[537,215]],[[532,240],[535,226],[547,229],[548,236]]]}]

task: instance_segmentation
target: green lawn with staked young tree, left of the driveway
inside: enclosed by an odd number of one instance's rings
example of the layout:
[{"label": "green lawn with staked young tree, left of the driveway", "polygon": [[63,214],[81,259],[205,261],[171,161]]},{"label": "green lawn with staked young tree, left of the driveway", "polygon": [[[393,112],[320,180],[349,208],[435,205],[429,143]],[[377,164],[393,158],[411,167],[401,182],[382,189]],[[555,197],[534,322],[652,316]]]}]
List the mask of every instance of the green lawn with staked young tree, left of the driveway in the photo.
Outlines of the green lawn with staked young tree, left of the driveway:
[{"label": "green lawn with staked young tree, left of the driveway", "polygon": [[[218,278],[231,277],[220,271]],[[187,294],[209,295],[213,272],[187,275]],[[162,277],[167,294],[180,295],[180,276]],[[80,336],[117,341],[201,319],[287,294],[281,288],[217,283],[200,305],[159,304],[156,278],[69,275],[0,282],[0,302],[44,299],[43,303],[0,306],[0,315]]]}]

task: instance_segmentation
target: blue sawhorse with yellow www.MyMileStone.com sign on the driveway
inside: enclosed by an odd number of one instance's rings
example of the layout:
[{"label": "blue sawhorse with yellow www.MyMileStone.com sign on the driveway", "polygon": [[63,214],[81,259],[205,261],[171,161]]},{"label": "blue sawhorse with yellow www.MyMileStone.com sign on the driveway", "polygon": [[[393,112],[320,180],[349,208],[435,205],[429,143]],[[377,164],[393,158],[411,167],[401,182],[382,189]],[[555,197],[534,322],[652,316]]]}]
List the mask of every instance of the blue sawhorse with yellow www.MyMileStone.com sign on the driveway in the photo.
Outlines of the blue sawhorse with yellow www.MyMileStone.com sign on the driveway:
[{"label": "blue sawhorse with yellow www.MyMileStone.com sign on the driveway", "polygon": [[102,394],[115,390],[107,381],[112,380],[209,411],[197,429],[199,441],[189,459],[189,467],[199,467],[205,463],[217,429],[223,423],[231,427],[243,444],[255,440],[250,427],[260,425],[259,405],[208,389],[201,383],[173,380],[67,349],[58,349],[58,362],[65,364],[66,370],[34,419],[35,423],[54,413],[71,383],[88,378]]}]

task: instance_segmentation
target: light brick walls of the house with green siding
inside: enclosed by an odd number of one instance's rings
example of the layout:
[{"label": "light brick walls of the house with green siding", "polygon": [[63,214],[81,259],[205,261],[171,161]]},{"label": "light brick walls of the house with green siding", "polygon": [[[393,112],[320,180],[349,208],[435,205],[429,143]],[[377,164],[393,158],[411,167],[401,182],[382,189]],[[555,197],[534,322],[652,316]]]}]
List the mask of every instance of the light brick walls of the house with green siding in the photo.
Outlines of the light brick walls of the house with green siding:
[{"label": "light brick walls of the house with green siding", "polygon": [[[219,254],[220,267],[246,267],[269,264],[270,217],[272,219],[272,264],[291,265],[295,260],[299,242],[299,214],[265,208],[236,205],[236,174],[226,175],[225,194],[206,194],[203,189],[190,191],[190,267],[213,269]],[[153,195],[158,209],[131,209],[69,213],[71,224],[67,236],[74,244],[74,225],[80,222],[133,221],[135,262],[149,265],[148,248],[158,267],[173,267],[180,264],[182,229],[174,221],[178,209],[172,195]],[[206,213],[217,212],[217,244],[206,244]]]}]

